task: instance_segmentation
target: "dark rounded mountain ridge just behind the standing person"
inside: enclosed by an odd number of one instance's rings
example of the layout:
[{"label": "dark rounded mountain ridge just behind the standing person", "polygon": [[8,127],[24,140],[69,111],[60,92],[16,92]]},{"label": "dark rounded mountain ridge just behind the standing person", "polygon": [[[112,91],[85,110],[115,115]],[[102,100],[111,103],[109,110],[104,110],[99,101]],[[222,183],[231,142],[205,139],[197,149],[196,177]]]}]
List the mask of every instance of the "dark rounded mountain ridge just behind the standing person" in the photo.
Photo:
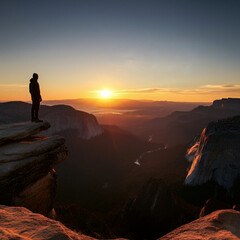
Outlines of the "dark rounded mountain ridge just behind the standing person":
[{"label": "dark rounded mountain ridge just behind the standing person", "polygon": [[[0,123],[30,120],[31,104],[25,102],[0,103]],[[51,124],[44,135],[52,135],[65,130],[76,130],[79,138],[90,139],[101,135],[103,128],[94,115],[75,110],[67,105],[40,107],[40,118]]]}]

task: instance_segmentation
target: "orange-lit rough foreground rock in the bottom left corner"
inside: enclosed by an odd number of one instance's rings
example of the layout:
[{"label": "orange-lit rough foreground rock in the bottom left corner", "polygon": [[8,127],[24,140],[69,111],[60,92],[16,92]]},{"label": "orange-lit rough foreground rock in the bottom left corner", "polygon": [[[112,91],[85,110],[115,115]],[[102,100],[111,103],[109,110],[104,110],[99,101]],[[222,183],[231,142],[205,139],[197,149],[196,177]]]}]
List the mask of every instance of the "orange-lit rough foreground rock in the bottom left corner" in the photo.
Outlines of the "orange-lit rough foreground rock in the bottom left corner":
[{"label": "orange-lit rough foreground rock in the bottom left corner", "polygon": [[0,239],[91,240],[62,223],[35,214],[23,207],[0,205]]}]

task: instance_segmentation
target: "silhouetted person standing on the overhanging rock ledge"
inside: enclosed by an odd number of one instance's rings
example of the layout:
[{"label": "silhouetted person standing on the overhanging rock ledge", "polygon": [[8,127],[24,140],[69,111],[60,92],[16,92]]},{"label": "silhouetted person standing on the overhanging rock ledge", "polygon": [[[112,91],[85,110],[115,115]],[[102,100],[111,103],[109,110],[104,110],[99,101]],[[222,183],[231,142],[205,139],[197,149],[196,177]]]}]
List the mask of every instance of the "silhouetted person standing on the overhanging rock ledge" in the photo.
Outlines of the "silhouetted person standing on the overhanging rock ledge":
[{"label": "silhouetted person standing on the overhanging rock ledge", "polygon": [[38,111],[40,107],[40,102],[42,101],[42,97],[40,94],[40,88],[37,80],[38,75],[37,73],[34,73],[33,77],[30,79],[29,84],[29,92],[31,93],[32,97],[32,111],[31,111],[32,122],[42,122],[42,120],[38,118]]}]

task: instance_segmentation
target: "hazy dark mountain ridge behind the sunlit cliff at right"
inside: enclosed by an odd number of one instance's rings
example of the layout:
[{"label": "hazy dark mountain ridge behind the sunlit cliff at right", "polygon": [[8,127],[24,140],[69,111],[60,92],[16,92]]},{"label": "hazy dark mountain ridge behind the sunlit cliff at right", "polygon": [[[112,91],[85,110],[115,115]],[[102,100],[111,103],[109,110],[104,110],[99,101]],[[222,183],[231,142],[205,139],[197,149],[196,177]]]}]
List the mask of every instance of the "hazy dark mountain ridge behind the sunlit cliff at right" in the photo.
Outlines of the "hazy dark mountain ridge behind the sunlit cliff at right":
[{"label": "hazy dark mountain ridge behind the sunlit cliff at right", "polygon": [[240,98],[215,100],[210,106],[198,106],[191,111],[177,111],[163,118],[142,124],[143,137],[168,145],[190,143],[211,121],[240,115]]}]

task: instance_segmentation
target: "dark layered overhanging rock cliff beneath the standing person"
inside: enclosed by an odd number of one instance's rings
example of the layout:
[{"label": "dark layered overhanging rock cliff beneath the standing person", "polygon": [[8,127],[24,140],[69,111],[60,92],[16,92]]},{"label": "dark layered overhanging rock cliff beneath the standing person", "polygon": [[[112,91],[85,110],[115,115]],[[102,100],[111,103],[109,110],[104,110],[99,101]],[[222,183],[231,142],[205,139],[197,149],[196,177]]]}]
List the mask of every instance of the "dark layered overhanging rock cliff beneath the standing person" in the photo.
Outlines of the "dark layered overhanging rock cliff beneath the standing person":
[{"label": "dark layered overhanging rock cliff beneath the standing person", "polygon": [[33,134],[49,123],[0,125],[0,204],[51,215],[56,194],[54,165],[67,156],[64,138]]}]

